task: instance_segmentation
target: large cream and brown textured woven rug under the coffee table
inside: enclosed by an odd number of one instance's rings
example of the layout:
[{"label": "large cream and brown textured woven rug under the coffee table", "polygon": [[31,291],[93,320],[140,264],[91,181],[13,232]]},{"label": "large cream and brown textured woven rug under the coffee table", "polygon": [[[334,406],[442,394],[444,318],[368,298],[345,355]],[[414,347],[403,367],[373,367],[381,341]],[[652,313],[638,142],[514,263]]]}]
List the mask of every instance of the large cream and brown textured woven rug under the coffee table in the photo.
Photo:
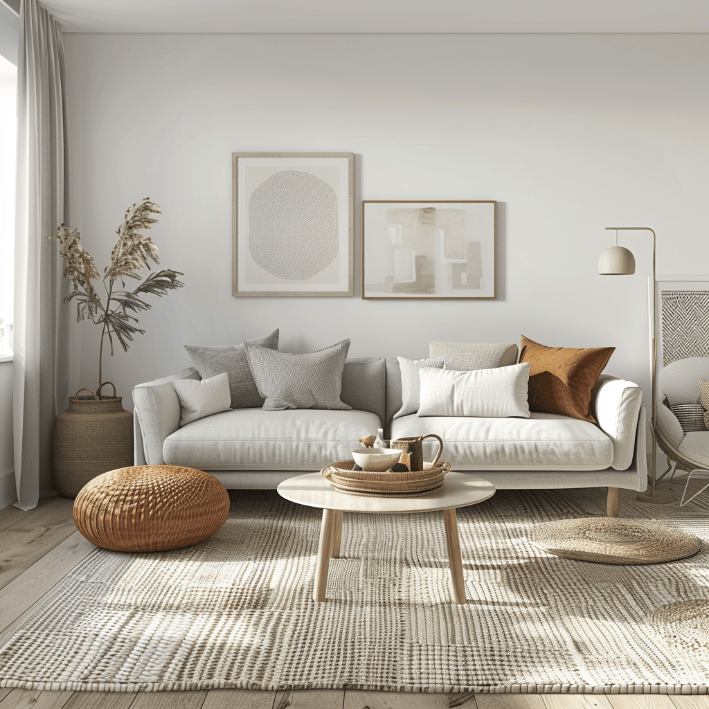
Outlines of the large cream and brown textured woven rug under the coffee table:
[{"label": "large cream and brown textured woven rug under the coffee table", "polygon": [[[654,566],[554,557],[533,525],[603,516],[603,492],[499,491],[459,510],[467,605],[441,513],[347,515],[328,601],[313,602],[320,510],[231,493],[230,518],[173,552],[97,549],[0,649],[0,686],[73,690],[367,688],[706,693],[709,516]],[[621,515],[648,507],[621,499]]]}]

